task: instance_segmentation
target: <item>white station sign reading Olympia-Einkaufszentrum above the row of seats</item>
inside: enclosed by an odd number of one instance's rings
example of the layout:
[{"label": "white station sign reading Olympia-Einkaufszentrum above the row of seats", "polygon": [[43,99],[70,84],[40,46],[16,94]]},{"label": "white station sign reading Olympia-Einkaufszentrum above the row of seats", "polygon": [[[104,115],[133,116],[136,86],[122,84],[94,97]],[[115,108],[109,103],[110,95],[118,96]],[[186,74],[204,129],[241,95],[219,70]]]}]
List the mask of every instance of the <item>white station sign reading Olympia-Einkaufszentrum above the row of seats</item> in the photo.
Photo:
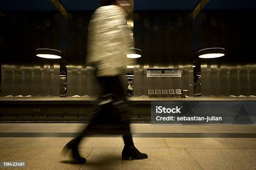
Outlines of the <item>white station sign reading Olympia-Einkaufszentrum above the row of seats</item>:
[{"label": "white station sign reading Olympia-Einkaufszentrum above the row of seats", "polygon": [[181,77],[180,68],[148,68],[147,77]]}]

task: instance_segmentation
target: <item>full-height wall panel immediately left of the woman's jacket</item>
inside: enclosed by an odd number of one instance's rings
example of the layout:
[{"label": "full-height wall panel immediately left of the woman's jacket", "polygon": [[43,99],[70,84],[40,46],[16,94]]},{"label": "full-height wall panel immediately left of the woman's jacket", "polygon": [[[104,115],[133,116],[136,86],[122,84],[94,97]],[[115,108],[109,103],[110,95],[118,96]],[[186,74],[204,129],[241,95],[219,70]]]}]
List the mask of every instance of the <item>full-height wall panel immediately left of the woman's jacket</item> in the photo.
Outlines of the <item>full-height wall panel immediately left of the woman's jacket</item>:
[{"label": "full-height wall panel immediately left of the woman's jacket", "polygon": [[[86,65],[87,28],[93,11],[73,11],[67,22],[67,96],[93,96],[95,69]],[[93,86],[93,87],[92,87]],[[95,87],[95,88],[94,88]]]}]

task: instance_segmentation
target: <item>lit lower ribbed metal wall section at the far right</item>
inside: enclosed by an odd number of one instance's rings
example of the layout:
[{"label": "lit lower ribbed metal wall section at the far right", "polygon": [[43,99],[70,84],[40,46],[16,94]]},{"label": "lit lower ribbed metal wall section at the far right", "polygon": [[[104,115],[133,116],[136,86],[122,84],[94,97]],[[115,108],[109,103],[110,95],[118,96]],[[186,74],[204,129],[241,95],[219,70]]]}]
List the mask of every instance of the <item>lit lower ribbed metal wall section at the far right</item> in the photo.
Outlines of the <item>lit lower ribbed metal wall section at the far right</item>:
[{"label": "lit lower ribbed metal wall section at the far right", "polygon": [[256,96],[256,62],[201,64],[202,97]]}]

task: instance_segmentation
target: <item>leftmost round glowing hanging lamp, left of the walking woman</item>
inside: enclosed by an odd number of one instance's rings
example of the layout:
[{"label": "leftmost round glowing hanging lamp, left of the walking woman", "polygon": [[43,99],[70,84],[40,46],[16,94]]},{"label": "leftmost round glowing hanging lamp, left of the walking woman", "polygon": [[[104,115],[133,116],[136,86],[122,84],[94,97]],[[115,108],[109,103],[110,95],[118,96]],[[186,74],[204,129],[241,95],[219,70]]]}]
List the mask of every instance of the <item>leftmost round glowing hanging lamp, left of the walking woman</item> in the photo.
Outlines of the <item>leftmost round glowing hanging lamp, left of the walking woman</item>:
[{"label": "leftmost round glowing hanging lamp, left of the walking woman", "polygon": [[61,58],[61,51],[48,48],[39,48],[36,49],[36,56],[49,59],[59,59]]}]

